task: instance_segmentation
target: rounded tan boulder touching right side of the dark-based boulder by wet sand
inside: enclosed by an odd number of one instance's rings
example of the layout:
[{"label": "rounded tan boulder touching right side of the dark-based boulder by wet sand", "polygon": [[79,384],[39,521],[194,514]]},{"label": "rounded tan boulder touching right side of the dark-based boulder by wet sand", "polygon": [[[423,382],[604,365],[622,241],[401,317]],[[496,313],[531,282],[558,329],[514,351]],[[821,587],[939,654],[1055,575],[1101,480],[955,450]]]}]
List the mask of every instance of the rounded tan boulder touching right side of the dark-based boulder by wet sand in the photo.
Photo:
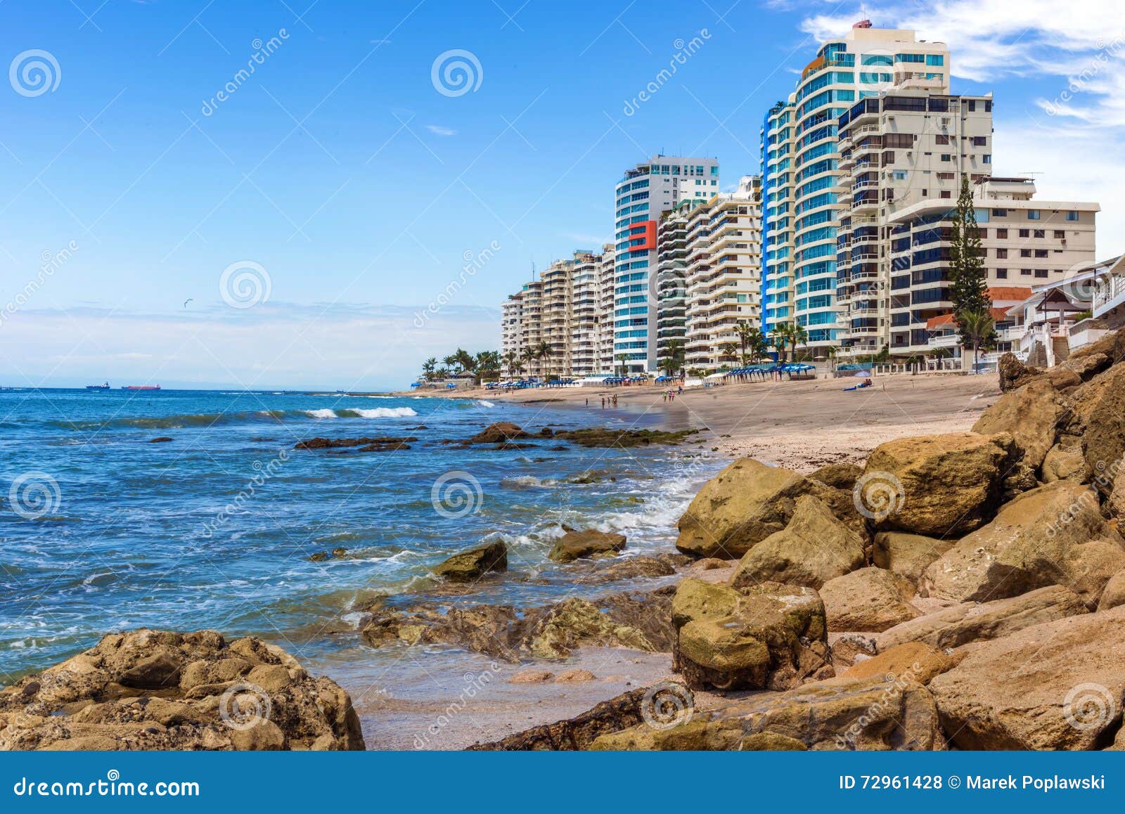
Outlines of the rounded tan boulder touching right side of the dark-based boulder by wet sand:
[{"label": "rounded tan boulder touching right side of the dark-based boulder by wet sand", "polygon": [[820,587],[825,617],[832,632],[880,632],[920,615],[910,604],[911,586],[882,568],[861,568]]}]

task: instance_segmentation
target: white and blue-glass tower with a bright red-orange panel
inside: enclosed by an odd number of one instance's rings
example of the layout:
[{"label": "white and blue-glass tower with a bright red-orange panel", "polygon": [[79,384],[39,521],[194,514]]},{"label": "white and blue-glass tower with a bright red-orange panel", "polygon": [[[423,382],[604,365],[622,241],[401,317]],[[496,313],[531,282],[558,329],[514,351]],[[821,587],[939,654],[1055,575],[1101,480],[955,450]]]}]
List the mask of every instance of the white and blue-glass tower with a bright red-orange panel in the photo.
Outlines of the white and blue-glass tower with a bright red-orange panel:
[{"label": "white and blue-glass tower with a bright red-orange panel", "polygon": [[714,159],[656,155],[614,188],[613,355],[630,372],[657,369],[657,224],[688,198],[719,191]]}]

